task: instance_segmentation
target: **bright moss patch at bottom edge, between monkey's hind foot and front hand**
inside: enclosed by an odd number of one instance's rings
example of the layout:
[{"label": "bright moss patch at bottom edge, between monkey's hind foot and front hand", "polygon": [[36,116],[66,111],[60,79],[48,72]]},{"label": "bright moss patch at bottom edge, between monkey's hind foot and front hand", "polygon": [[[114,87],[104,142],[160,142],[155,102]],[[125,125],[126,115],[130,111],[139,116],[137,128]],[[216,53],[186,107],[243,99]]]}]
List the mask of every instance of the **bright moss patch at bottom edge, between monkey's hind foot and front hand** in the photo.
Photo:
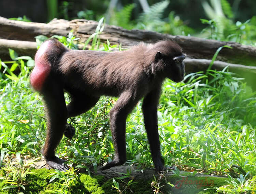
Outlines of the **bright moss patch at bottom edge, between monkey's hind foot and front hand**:
[{"label": "bright moss patch at bottom edge, between monkey's hind foot and front hand", "polygon": [[103,176],[96,176],[93,178],[93,177],[90,177],[89,175],[82,174],[79,177],[79,180],[81,181],[84,188],[89,193],[101,194],[101,193],[105,193],[99,184],[99,182],[101,182],[103,178],[104,178]]}]

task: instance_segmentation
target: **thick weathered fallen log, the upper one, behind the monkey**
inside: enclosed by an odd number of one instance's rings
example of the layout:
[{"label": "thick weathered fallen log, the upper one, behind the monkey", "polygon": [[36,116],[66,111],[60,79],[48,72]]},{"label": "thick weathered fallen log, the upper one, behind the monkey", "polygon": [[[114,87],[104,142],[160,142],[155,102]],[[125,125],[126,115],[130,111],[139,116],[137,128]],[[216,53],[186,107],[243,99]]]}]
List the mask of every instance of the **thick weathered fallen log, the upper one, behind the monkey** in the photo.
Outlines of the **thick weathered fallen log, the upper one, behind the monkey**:
[{"label": "thick weathered fallen log, the upper one, behind the monkey", "polygon": [[[37,35],[66,36],[70,30],[80,38],[79,43],[84,43],[95,32],[98,22],[91,20],[75,19],[71,21],[54,19],[51,22],[35,23],[9,20],[0,17],[0,38],[12,40],[34,41]],[[105,25],[104,31],[99,36],[101,41],[107,39],[111,44],[122,42],[124,48],[128,48],[140,41],[155,42],[161,39],[173,39],[181,45],[184,52],[190,58],[211,59],[216,50],[224,45],[233,49],[223,48],[217,60],[234,64],[254,66],[256,61],[256,47],[241,45],[236,42],[208,40],[190,36],[172,36],[146,30],[126,30],[113,25]]]}]

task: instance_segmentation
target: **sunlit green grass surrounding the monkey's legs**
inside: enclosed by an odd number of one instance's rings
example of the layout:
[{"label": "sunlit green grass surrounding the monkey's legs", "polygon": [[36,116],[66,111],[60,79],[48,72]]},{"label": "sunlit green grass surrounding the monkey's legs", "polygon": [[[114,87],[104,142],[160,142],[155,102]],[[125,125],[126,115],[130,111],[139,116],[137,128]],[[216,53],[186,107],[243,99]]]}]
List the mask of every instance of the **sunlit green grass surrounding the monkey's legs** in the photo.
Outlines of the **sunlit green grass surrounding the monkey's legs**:
[{"label": "sunlit green grass surrounding the monkey's legs", "polygon": [[[18,64],[21,63],[18,61]],[[30,67],[23,66],[18,81],[1,74],[1,164],[12,158],[39,156],[46,120],[41,96],[29,84]],[[180,170],[239,176],[239,165],[256,176],[256,93],[229,72],[193,73],[187,82],[166,80],[158,107],[161,152],[167,165]],[[206,80],[205,80],[206,79]],[[203,81],[205,82],[203,83]],[[208,84],[205,84],[208,83]],[[103,165],[113,157],[108,113],[115,98],[102,97],[88,112],[72,118],[76,136],[63,137],[59,157],[78,165]],[[143,126],[141,102],[127,118],[127,163],[153,167]]]}]

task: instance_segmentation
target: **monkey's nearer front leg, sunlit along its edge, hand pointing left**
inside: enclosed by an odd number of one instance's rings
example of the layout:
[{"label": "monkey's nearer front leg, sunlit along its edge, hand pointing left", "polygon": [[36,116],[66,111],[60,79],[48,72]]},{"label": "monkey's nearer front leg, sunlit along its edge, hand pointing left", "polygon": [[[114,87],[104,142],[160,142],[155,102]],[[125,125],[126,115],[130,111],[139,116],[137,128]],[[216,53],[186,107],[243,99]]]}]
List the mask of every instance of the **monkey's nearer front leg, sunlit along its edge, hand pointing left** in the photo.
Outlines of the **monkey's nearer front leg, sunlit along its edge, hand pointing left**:
[{"label": "monkey's nearer front leg, sunlit along its edge, hand pointing left", "polygon": [[125,92],[120,95],[115,106],[110,111],[110,128],[115,149],[115,158],[101,168],[101,170],[109,169],[113,166],[124,164],[126,161],[125,149],[125,124],[126,117],[136,105],[136,101],[132,101],[131,92]]}]

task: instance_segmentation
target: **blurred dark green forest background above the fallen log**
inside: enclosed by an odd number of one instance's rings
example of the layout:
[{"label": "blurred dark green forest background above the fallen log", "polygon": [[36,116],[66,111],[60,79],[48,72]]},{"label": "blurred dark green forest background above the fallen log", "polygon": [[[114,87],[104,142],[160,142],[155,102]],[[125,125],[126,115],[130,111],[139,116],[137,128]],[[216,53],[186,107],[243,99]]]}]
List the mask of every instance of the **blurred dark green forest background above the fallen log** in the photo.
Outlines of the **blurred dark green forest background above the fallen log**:
[{"label": "blurred dark green forest background above the fallen log", "polygon": [[[33,22],[49,22],[53,18],[62,19],[90,19],[99,20],[102,16],[106,17],[106,22],[110,24],[120,25],[120,22],[115,21],[118,18],[116,13],[123,10],[127,5],[133,4],[132,12],[129,21],[137,23],[141,17],[141,13],[147,5],[152,6],[159,0],[37,0],[37,1],[19,1],[19,0],[1,0],[0,1],[0,16],[6,18],[26,16]],[[161,20],[170,21],[170,13],[173,14],[173,19],[177,22],[185,24],[193,29],[190,33],[199,33],[205,24],[200,21],[200,18],[213,19],[222,15],[223,12],[226,18],[232,20],[233,23],[240,21],[244,23],[248,19],[253,18],[256,10],[256,1],[252,0],[179,0],[166,1],[162,8]],[[218,8],[218,2],[221,2],[222,7]],[[209,6],[213,10],[209,9]],[[230,8],[225,5],[229,4]],[[144,4],[144,10],[143,5]],[[215,6],[215,7],[214,7]],[[159,5],[158,5],[159,8]],[[161,7],[160,7],[161,8]],[[214,16],[211,12],[215,12]],[[124,19],[124,18],[123,18]],[[127,28],[126,20],[123,21],[123,27]],[[126,25],[126,26],[125,26]],[[130,28],[138,28],[138,26],[129,26]],[[128,27],[128,28],[129,28]],[[152,29],[149,29],[152,30]],[[155,29],[154,29],[155,30]],[[156,30],[157,31],[157,30]],[[161,30],[160,30],[161,32]],[[162,30],[162,32],[173,33],[171,30]],[[185,32],[186,35],[186,32]]]}]

